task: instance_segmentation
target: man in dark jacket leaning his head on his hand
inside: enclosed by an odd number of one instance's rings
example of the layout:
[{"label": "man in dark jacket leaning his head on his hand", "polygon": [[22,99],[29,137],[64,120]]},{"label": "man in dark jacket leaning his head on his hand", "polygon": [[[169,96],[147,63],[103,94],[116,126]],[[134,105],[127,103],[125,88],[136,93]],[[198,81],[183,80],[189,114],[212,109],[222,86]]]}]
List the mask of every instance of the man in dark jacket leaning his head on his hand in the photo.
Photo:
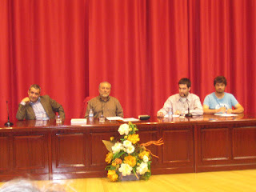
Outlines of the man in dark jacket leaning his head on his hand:
[{"label": "man in dark jacket leaning his head on his hand", "polygon": [[30,119],[53,119],[55,112],[58,112],[62,119],[65,118],[65,113],[62,105],[54,101],[49,95],[40,96],[41,87],[34,84],[28,90],[28,97],[23,98],[18,105],[16,118],[18,120]]}]

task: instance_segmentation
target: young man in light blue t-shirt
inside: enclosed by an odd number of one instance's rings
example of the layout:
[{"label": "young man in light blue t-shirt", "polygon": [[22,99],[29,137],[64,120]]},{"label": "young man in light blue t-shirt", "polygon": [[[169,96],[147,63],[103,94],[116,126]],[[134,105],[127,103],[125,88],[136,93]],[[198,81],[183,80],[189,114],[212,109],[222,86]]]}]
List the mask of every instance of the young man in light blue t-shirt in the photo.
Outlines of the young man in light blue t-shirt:
[{"label": "young man in light blue t-shirt", "polygon": [[[214,87],[215,92],[208,94],[203,102],[203,112],[205,114],[239,114],[244,111],[237,99],[234,98],[234,95],[225,92],[225,77],[218,76],[217,78],[214,78]],[[234,110],[232,110],[232,106],[234,106]]]}]

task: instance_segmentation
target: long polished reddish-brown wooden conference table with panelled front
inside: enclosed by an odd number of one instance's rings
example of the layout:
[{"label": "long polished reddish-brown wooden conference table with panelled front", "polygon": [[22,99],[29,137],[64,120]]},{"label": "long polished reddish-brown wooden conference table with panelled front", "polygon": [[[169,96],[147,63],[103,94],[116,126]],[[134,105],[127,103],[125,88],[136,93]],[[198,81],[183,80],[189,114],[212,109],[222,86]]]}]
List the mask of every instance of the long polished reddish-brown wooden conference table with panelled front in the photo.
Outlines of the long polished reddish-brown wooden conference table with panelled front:
[{"label": "long polished reddish-brown wooden conference table with panelled front", "polygon": [[[152,174],[256,168],[254,115],[151,117],[134,123],[139,143],[163,138],[164,145],[147,147],[158,156],[152,159]],[[0,181],[106,177],[107,150],[102,140],[118,138],[121,124],[94,119],[74,126],[66,119],[62,125],[30,120],[0,126]]]}]

